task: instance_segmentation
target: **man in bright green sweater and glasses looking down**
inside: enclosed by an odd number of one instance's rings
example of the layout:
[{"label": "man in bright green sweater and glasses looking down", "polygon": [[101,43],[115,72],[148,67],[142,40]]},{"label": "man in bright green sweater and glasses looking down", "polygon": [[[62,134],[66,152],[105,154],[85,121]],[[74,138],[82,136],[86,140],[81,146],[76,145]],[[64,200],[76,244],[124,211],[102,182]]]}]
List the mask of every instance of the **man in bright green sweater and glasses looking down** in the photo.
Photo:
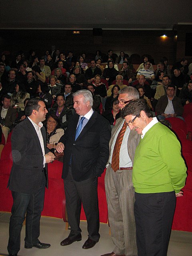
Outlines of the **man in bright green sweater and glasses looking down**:
[{"label": "man in bright green sweater and glasses looking down", "polygon": [[180,142],[142,100],[131,101],[122,114],[141,134],[133,165],[138,256],[166,256],[176,197],[186,180]]}]

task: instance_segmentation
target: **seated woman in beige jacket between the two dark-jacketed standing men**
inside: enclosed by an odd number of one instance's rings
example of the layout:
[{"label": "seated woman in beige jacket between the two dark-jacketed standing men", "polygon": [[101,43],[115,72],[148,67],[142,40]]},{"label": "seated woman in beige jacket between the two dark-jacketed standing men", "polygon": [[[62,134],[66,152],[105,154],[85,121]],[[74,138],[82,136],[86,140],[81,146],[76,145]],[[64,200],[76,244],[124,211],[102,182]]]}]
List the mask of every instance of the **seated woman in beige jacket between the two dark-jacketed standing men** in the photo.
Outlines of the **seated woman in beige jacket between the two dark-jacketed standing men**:
[{"label": "seated woman in beige jacket between the two dark-jacketed standing men", "polygon": [[58,116],[50,114],[46,120],[46,134],[47,147],[54,153],[56,151],[56,144],[59,142],[61,136],[64,135],[64,130],[60,128],[60,121]]}]

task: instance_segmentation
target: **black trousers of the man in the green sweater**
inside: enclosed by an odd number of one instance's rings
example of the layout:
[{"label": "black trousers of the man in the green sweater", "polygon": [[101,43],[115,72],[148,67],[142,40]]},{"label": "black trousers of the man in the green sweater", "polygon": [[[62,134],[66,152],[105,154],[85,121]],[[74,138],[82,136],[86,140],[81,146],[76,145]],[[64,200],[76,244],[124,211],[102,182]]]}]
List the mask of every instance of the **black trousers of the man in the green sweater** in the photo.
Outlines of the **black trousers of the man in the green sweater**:
[{"label": "black trousers of the man in the green sweater", "polygon": [[135,193],[138,256],[166,256],[176,205],[175,192]]}]

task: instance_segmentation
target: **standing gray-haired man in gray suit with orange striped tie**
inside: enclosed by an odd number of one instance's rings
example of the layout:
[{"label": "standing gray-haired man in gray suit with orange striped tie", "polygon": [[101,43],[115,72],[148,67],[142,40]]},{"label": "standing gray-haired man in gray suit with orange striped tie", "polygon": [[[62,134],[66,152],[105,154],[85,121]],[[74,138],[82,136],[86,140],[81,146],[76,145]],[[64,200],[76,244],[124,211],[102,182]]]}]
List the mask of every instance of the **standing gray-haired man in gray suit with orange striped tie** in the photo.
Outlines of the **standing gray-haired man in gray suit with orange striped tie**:
[{"label": "standing gray-haired man in gray suit with orange striped tie", "polygon": [[[138,91],[128,86],[119,92],[118,104],[123,109],[130,100],[138,98]],[[123,138],[120,141],[121,136]],[[113,252],[102,256],[137,255],[132,166],[139,141],[140,135],[134,130],[131,131],[124,119],[118,118],[109,142],[110,157],[105,175],[108,217],[115,248]],[[119,150],[116,151],[118,145]],[[118,164],[115,167],[118,154]]]}]

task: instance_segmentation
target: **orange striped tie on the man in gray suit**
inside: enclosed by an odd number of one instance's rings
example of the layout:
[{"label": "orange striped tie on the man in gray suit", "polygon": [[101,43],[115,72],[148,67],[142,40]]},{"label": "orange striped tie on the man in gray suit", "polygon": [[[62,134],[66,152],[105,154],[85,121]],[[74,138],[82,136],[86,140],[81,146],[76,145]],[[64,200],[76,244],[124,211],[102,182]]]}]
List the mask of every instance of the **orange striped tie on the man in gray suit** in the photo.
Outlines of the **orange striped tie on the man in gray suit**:
[{"label": "orange striped tie on the man in gray suit", "polygon": [[114,170],[114,172],[119,170],[119,152],[120,152],[120,148],[121,148],[121,144],[122,144],[122,140],[123,140],[123,136],[126,131],[126,128],[127,128],[126,122],[124,122],[123,127],[121,128],[115,142],[115,146],[112,154],[112,161],[111,161],[111,167]]}]

